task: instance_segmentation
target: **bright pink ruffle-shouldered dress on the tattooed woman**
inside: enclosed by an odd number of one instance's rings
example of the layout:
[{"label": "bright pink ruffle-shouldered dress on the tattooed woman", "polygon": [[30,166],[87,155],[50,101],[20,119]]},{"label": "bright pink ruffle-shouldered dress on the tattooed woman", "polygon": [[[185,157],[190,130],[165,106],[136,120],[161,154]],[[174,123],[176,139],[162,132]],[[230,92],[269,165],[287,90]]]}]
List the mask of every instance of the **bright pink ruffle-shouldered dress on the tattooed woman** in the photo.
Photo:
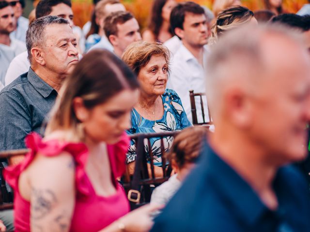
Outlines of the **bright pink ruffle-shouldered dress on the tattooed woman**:
[{"label": "bright pink ruffle-shouldered dress on the tattooed woman", "polygon": [[[116,177],[125,171],[125,153],[129,139],[124,133],[120,142],[108,145],[109,160],[116,194],[108,197],[98,196],[85,172],[89,155],[82,143],[65,143],[58,140],[43,142],[40,135],[32,133],[26,138],[26,145],[31,149],[25,159],[16,166],[5,170],[6,181],[14,188],[15,228],[16,232],[30,231],[30,202],[23,199],[18,190],[19,175],[30,165],[37,152],[45,156],[57,156],[63,151],[70,153],[76,162],[76,202],[70,231],[97,232],[116,219],[129,212],[129,203],[124,189],[117,183]],[[55,167],[57,171],[57,167]],[[52,226],[52,225],[51,225]]]}]

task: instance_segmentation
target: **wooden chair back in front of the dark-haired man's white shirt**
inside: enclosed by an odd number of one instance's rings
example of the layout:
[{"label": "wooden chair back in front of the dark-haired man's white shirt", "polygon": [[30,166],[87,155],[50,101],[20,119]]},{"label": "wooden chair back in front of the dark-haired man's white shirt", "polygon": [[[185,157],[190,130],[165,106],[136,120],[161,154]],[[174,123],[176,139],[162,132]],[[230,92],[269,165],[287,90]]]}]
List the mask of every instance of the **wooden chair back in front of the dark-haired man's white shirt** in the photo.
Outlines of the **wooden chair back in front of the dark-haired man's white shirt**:
[{"label": "wooden chair back in front of the dark-haired man's white shirt", "polygon": [[[189,98],[190,98],[190,106],[191,106],[191,112],[192,112],[192,118],[193,118],[193,125],[211,125],[212,124],[212,118],[211,118],[211,114],[210,114],[210,110],[209,107],[207,107],[208,110],[208,116],[210,121],[206,122],[205,121],[205,114],[204,114],[204,104],[202,101],[202,96],[205,96],[205,93],[194,93],[194,90],[189,90]],[[202,122],[198,122],[197,119],[197,109],[196,109],[196,102],[195,102],[195,97],[199,97],[200,99],[200,105],[201,105],[201,110],[202,110]]]}]

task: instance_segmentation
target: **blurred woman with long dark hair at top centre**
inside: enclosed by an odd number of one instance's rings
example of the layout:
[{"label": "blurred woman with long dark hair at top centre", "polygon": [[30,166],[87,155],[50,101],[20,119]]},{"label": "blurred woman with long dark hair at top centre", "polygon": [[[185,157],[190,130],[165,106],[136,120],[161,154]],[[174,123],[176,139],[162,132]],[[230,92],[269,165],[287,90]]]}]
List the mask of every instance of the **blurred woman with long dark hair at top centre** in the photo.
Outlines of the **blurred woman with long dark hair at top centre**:
[{"label": "blurred woman with long dark hair at top centre", "polygon": [[170,13],[175,5],[175,0],[154,0],[149,26],[142,34],[143,40],[164,43],[172,37]]}]

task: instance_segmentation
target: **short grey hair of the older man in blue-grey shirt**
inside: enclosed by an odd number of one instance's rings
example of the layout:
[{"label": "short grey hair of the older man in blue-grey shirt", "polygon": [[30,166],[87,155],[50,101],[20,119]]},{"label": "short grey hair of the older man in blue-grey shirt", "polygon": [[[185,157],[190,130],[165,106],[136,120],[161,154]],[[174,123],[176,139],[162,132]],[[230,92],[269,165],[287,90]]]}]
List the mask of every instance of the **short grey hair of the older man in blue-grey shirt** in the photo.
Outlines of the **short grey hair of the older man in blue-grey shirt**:
[{"label": "short grey hair of the older man in blue-grey shirt", "polygon": [[42,46],[45,42],[45,28],[51,24],[69,24],[68,20],[58,17],[47,15],[34,20],[26,33],[26,46],[28,52],[28,60],[31,63],[31,48],[35,46]]}]

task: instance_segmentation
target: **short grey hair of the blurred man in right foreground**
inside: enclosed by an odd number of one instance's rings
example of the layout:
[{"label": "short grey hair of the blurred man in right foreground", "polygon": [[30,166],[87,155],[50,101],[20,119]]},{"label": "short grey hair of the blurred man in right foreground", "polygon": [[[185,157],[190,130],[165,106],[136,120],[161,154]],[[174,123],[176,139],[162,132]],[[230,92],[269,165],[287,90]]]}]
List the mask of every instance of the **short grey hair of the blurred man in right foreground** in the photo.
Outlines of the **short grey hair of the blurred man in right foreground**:
[{"label": "short grey hair of the blurred man in right foreground", "polygon": [[238,80],[232,79],[236,78],[233,72],[246,73],[246,84],[255,89],[255,85],[264,75],[263,72],[266,72],[262,51],[263,39],[266,36],[278,36],[301,46],[303,44],[301,33],[279,24],[246,25],[223,34],[218,43],[211,47],[211,54],[206,61],[206,93],[211,111],[218,108],[217,105],[220,106],[225,85],[242,85],[237,83]]}]

